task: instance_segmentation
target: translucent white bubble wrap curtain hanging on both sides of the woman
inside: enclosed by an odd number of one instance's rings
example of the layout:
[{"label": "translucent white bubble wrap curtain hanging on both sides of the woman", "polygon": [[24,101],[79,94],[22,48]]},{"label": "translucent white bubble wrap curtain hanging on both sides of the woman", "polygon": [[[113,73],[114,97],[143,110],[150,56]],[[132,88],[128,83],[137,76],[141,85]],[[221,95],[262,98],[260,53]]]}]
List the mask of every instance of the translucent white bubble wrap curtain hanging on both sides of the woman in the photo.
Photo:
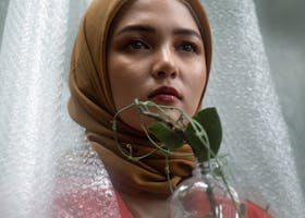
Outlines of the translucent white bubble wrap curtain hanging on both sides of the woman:
[{"label": "translucent white bubble wrap curtain hanging on both sides of the woman", "polygon": [[[7,0],[0,4],[3,217],[51,217],[57,161],[66,150],[83,147],[83,130],[70,120],[66,100],[70,53],[88,2]],[[254,2],[203,2],[215,45],[205,106],[219,109],[224,132],[221,153],[229,154],[232,184],[243,197],[270,204],[276,217],[303,217],[305,181],[297,177]]]}]

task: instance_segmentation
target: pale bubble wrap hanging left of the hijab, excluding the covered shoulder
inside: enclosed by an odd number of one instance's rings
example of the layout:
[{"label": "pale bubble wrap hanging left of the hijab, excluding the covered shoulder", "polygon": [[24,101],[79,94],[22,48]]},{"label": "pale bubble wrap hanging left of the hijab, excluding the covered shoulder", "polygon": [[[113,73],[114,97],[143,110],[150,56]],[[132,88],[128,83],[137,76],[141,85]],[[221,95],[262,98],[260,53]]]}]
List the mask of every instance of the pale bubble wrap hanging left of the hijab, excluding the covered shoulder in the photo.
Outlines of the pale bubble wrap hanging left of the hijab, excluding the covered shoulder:
[{"label": "pale bubble wrap hanging left of the hijab, excluding the covered shoulder", "polygon": [[73,2],[9,3],[0,53],[3,217],[50,216],[56,161],[81,142],[82,131],[70,121],[65,105]]}]

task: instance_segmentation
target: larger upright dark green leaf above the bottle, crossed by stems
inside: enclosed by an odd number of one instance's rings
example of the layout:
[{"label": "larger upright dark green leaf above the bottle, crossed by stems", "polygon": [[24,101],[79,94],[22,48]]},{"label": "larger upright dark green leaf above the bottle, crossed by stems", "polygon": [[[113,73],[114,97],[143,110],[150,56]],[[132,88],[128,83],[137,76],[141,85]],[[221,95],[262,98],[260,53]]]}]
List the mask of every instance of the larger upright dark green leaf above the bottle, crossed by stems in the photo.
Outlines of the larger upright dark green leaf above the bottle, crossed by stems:
[{"label": "larger upright dark green leaf above the bottle, crossed by stems", "polygon": [[[210,149],[217,155],[222,140],[222,129],[216,108],[206,108],[196,113],[193,119],[204,128],[208,136]],[[191,123],[188,123],[185,130],[185,136],[198,160],[208,160],[207,144],[205,145],[200,142]],[[205,141],[205,138],[203,140]]]}]

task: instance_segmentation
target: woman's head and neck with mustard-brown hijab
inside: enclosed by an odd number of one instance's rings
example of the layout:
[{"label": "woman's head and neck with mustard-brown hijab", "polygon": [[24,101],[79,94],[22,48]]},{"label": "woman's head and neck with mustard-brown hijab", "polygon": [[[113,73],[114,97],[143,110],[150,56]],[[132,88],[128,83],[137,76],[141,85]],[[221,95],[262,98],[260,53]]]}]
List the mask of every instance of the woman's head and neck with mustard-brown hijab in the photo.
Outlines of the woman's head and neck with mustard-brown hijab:
[{"label": "woman's head and neck with mustard-brown hijab", "polygon": [[[113,142],[114,113],[138,98],[193,116],[210,63],[210,29],[198,0],[95,0],[87,10],[72,55],[69,111],[102,160],[122,216],[168,217],[169,182],[175,187],[190,177],[194,159],[170,157],[170,181],[161,153],[127,160]],[[118,132],[126,152],[141,156],[152,149],[135,110],[120,116]],[[184,145],[176,153],[191,148]]]}]

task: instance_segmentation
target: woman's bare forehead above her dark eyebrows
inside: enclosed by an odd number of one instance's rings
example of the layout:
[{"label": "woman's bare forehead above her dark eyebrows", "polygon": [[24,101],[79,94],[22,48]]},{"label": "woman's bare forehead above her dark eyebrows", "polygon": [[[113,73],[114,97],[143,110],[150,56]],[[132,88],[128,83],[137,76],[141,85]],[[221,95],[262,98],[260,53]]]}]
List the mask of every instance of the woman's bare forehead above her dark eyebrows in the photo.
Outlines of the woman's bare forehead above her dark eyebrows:
[{"label": "woman's bare forehead above her dark eyebrows", "polygon": [[199,33],[191,10],[181,0],[131,0],[114,19],[114,32],[137,23],[163,27],[187,27]]}]

